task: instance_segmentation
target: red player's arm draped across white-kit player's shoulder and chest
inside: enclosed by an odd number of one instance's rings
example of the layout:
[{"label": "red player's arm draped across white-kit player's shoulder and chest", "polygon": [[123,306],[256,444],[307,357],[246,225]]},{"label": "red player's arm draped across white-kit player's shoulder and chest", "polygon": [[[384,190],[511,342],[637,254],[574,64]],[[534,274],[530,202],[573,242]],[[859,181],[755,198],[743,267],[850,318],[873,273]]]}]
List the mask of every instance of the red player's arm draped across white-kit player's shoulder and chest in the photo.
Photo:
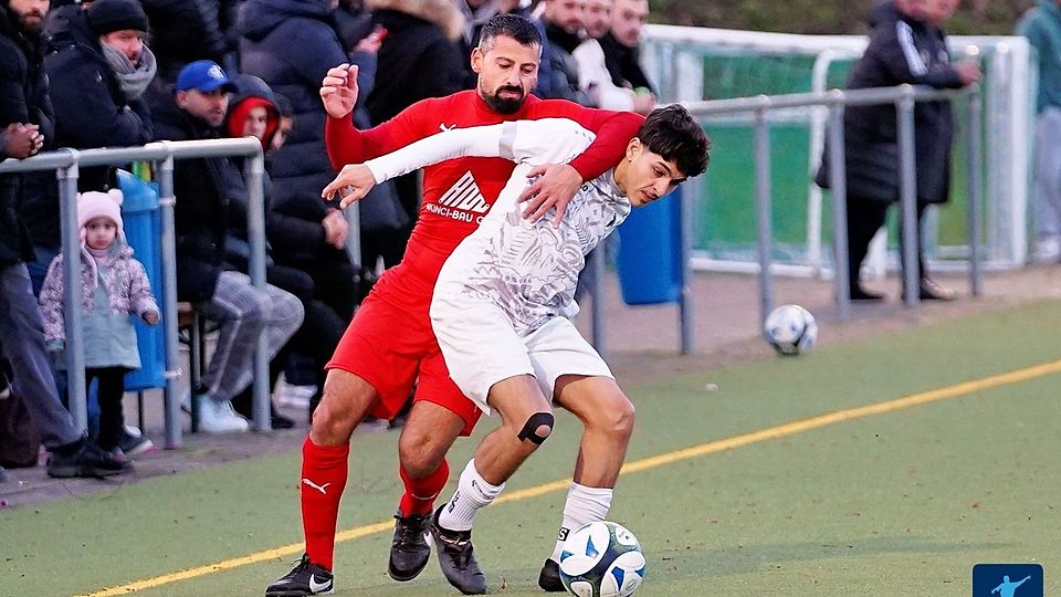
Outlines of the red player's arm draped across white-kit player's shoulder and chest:
[{"label": "red player's arm draped across white-kit player's shoulder and chest", "polygon": [[596,140],[570,164],[543,165],[527,172],[528,177],[542,177],[519,196],[521,202],[527,202],[524,217],[537,221],[556,207],[553,223],[559,226],[567,203],[582,182],[599,177],[622,160],[627,145],[638,134],[644,117],[630,112],[587,108],[558,100],[539,102],[534,115],[568,118],[597,134]]}]

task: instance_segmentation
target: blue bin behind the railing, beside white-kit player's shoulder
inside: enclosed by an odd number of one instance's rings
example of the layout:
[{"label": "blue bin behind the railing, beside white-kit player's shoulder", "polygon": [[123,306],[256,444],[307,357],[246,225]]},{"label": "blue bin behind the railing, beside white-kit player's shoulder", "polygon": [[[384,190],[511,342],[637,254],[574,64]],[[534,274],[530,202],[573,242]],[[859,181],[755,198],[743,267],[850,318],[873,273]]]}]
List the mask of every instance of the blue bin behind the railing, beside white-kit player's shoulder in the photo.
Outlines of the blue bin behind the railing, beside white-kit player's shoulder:
[{"label": "blue bin behind the railing, beside white-kit player's shoulder", "polygon": [[637,208],[619,227],[619,286],[628,305],[674,303],[682,295],[682,192]]}]

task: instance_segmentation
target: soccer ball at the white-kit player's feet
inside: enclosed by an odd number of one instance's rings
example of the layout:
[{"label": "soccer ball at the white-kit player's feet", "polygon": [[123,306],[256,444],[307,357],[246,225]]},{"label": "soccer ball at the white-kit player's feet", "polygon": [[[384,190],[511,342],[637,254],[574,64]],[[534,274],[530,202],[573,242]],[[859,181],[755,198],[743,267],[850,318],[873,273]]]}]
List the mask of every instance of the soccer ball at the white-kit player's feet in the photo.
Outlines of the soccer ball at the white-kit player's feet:
[{"label": "soccer ball at the white-kit player's feet", "polygon": [[630,597],[644,578],[638,537],[621,524],[584,524],[560,552],[560,580],[578,597]]}]

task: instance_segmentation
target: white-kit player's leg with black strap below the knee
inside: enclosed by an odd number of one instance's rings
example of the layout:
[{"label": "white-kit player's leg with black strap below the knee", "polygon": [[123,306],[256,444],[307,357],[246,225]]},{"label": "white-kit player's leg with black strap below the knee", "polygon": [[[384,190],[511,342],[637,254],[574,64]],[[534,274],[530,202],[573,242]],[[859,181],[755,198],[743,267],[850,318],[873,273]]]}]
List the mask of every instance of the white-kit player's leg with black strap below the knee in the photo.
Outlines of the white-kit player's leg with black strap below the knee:
[{"label": "white-kit player's leg with black strap below the knee", "polygon": [[501,415],[502,425],[483,439],[431,525],[442,574],[465,595],[486,593],[471,542],[475,514],[493,503],[505,481],[553,431],[551,407],[530,375],[494,384],[487,404]]}]

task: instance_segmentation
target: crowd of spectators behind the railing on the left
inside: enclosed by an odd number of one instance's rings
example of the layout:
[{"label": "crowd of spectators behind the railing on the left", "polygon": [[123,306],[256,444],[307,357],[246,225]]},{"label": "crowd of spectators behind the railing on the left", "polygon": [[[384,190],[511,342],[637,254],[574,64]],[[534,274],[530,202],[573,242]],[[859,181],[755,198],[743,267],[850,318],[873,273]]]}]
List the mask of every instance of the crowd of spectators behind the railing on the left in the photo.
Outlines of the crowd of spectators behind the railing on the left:
[{"label": "crowd of spectators behind the railing on the left", "polygon": [[[648,0],[0,0],[0,157],[151,140],[262,143],[264,289],[248,275],[240,159],[179,160],[174,172],[177,297],[219,331],[202,379],[182,399],[207,432],[248,429],[253,339],[262,334],[270,383],[283,373],[288,386],[307,388],[286,396],[312,410],[324,364],[375,276],[401,260],[417,219],[414,175],[374,189],[358,221],[321,200],[336,174],[318,95],[329,67],[358,66],[363,92],[351,117],[369,128],[420,100],[473,86],[466,56],[480,29],[515,12],[545,40],[538,96],[641,114],[655,105],[638,62]],[[125,243],[120,202],[115,168],[81,170],[83,323],[101,346],[127,348],[129,315],[154,324],[159,314]],[[0,175],[0,343],[10,363],[0,363],[0,390],[10,380],[8,394],[23,397],[52,454],[50,474],[117,474],[151,448],[124,425],[114,398],[138,359],[120,352],[91,364],[86,381],[97,383],[90,386],[90,429],[75,429],[64,406],[59,214],[52,172]],[[130,284],[134,291],[119,290]],[[272,423],[294,421],[274,409]]]}]

